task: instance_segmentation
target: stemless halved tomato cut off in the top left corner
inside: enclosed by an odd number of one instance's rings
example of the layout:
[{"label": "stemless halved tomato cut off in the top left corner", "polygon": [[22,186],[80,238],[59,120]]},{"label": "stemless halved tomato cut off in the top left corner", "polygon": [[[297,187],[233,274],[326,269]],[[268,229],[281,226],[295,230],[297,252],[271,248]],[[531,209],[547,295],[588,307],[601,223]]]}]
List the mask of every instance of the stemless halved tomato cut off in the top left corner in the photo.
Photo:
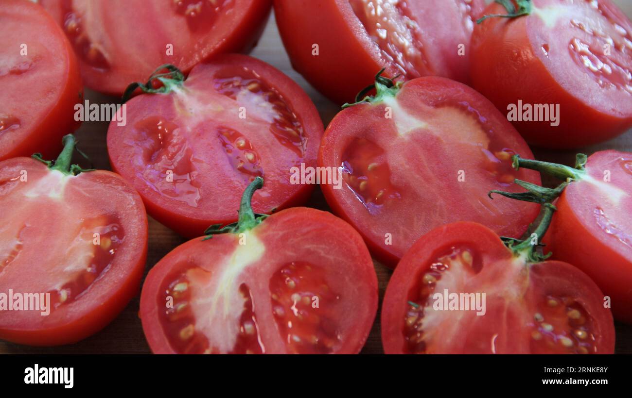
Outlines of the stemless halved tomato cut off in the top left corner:
[{"label": "stemless halved tomato cut off in the top left corner", "polygon": [[83,86],[70,43],[44,9],[0,3],[0,160],[41,151],[54,155],[79,126]]}]

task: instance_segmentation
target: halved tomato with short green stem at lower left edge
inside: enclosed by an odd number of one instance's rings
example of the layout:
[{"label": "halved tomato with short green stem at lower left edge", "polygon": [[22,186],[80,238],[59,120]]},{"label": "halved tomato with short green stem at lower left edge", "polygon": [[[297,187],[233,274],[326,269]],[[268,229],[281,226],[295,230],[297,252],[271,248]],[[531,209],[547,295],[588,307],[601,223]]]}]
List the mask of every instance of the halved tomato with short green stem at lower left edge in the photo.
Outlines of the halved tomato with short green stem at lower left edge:
[{"label": "halved tomato with short green stem at lower left edge", "polygon": [[[64,144],[49,167],[33,158],[0,162],[0,339],[76,342],[138,293],[147,255],[143,202],[118,174],[71,167],[73,136]],[[49,313],[16,310],[15,295],[44,298]]]}]

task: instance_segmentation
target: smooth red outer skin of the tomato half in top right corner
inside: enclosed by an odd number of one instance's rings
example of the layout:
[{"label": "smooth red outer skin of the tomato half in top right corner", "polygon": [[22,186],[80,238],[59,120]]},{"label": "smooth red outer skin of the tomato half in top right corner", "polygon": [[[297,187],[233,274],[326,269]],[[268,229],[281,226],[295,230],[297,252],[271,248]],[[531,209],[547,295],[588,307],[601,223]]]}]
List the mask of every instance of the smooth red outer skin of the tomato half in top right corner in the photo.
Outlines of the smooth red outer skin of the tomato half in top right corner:
[{"label": "smooth red outer skin of the tomato half in top right corner", "polygon": [[[600,3],[627,19],[610,0]],[[506,14],[506,9],[492,3],[483,14]],[[518,105],[518,100],[560,105],[557,127],[550,121],[512,122],[529,144],[574,149],[607,141],[632,127],[632,114],[596,109],[566,90],[537,55],[540,49],[532,45],[530,27],[525,17],[489,18],[475,26],[470,45],[472,86],[502,114],[507,115],[507,106]]]}]

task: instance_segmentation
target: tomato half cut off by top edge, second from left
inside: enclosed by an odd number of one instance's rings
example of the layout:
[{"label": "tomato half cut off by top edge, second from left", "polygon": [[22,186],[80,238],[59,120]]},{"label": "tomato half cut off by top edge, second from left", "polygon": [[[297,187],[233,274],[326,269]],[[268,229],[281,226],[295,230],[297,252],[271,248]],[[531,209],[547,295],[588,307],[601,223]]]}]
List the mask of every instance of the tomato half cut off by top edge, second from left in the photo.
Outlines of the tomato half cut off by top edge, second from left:
[{"label": "tomato half cut off by top edge, second from left", "polygon": [[224,52],[250,50],[271,0],[40,0],[75,48],[85,84],[121,95],[156,66],[188,72]]}]

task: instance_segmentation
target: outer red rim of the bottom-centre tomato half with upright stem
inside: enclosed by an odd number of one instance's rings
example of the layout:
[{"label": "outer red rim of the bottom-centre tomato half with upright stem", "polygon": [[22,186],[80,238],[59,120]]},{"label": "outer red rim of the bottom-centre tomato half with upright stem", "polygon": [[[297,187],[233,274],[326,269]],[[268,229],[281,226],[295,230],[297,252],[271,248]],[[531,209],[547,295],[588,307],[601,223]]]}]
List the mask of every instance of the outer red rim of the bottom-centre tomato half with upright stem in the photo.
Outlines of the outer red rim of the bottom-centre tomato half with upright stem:
[{"label": "outer red rim of the bottom-centre tomato half with upright stem", "polygon": [[[375,274],[370,254],[362,241],[362,237],[360,237],[351,226],[333,214],[312,208],[291,208],[280,211],[266,218],[261,225],[255,227],[253,230],[265,228],[265,230],[271,231],[270,234],[274,233],[273,231],[295,230],[296,235],[299,236],[301,235],[301,231],[305,230],[305,225],[310,225],[314,228],[327,226],[329,230],[337,231],[338,236],[345,237],[344,245],[348,248],[353,247],[353,250],[349,250],[349,253],[360,254],[355,262],[355,271],[358,272],[358,277],[362,279],[359,283],[368,286],[368,291],[371,293],[368,300],[358,307],[362,308],[358,310],[362,320],[356,324],[355,329],[351,331],[351,335],[346,339],[346,344],[337,352],[339,354],[356,354],[360,352],[367,340],[378,306],[377,275]],[[164,332],[161,321],[158,318],[160,308],[157,307],[156,302],[157,296],[162,293],[162,291],[160,291],[162,281],[178,266],[178,258],[186,257],[195,260],[198,255],[205,256],[206,253],[209,253],[209,250],[216,254],[229,253],[234,250],[234,247],[238,244],[238,238],[231,233],[214,235],[210,240],[202,240],[203,238],[204,237],[198,237],[189,240],[176,247],[176,249],[173,249],[150,269],[147,278],[145,278],[140,296],[140,319],[142,320],[143,332],[145,332],[147,342],[154,354],[177,353],[171,346],[169,338]],[[265,237],[264,243],[267,243],[265,242]],[[272,248],[272,250],[275,249],[284,250],[284,247]],[[274,254],[270,254],[270,257],[274,257]],[[274,260],[270,259],[270,262],[274,262]],[[362,269],[366,272],[360,273]],[[255,308],[261,307],[265,307],[265,304],[255,303]],[[260,325],[260,327],[263,329],[264,326]],[[276,332],[276,325],[269,330]],[[270,345],[272,349],[269,353],[284,353],[284,347],[279,346],[278,343]]]}]

